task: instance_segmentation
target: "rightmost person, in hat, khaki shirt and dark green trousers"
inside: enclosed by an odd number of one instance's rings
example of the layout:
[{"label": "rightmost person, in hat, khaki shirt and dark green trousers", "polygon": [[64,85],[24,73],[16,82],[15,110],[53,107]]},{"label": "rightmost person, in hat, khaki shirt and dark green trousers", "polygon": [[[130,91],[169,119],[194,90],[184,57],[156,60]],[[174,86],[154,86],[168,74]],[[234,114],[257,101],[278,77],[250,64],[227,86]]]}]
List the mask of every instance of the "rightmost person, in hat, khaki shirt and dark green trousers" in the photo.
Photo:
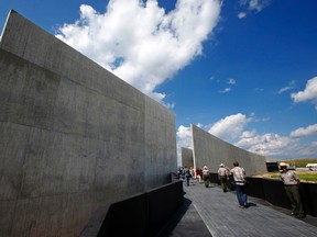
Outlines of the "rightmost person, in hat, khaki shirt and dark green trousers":
[{"label": "rightmost person, in hat, khaki shirt and dark green trousers", "polygon": [[291,215],[296,218],[305,218],[298,189],[299,178],[294,171],[287,169],[287,163],[281,162],[280,168],[280,177],[284,182],[284,189],[293,208]]}]

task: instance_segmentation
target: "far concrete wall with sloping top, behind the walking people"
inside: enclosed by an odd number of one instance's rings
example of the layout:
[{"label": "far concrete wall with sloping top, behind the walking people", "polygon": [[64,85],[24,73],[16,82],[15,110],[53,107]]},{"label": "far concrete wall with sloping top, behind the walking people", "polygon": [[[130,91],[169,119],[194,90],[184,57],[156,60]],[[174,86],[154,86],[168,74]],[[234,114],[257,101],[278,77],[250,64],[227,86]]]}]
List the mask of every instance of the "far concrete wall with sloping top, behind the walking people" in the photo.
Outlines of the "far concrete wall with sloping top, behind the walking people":
[{"label": "far concrete wall with sloping top, behind the walking people", "polygon": [[236,147],[204,129],[192,124],[194,160],[196,167],[208,166],[209,171],[217,172],[220,163],[232,168],[232,162],[238,160],[240,167],[245,169],[247,176],[266,172],[266,159]]}]

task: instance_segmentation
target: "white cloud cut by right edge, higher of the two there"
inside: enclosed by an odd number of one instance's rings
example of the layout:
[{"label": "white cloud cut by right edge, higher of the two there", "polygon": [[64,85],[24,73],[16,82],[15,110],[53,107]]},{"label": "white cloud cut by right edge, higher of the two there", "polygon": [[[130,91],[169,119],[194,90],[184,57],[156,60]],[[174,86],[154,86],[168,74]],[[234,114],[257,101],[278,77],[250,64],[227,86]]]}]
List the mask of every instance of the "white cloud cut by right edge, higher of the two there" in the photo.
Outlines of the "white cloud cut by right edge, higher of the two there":
[{"label": "white cloud cut by right edge, higher of the two there", "polygon": [[313,104],[315,104],[315,109],[317,110],[317,77],[314,77],[307,81],[304,91],[292,93],[291,97],[294,100],[294,102],[297,103],[310,101]]}]

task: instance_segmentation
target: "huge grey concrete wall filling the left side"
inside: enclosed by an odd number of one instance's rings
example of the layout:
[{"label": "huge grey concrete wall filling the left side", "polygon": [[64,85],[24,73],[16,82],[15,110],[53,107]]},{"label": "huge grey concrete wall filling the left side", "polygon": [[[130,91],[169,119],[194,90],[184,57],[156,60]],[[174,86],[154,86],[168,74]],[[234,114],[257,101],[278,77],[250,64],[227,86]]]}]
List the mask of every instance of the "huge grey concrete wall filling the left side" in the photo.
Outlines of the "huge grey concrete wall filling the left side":
[{"label": "huge grey concrete wall filling the left side", "polygon": [[0,42],[0,236],[78,236],[177,169],[174,114],[12,11]]}]

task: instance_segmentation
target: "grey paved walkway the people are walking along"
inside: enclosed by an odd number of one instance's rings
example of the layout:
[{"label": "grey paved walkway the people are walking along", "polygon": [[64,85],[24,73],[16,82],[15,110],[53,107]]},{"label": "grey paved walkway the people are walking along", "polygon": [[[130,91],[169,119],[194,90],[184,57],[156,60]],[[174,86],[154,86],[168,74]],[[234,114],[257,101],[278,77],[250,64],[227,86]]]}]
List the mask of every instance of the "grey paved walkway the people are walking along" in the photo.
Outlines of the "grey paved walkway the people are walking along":
[{"label": "grey paved walkway the people are walking along", "polygon": [[217,184],[205,188],[194,181],[184,185],[185,205],[158,235],[190,237],[316,237],[317,218],[297,219],[289,210],[275,207],[248,196],[248,208],[240,208],[236,192],[223,193]]}]

